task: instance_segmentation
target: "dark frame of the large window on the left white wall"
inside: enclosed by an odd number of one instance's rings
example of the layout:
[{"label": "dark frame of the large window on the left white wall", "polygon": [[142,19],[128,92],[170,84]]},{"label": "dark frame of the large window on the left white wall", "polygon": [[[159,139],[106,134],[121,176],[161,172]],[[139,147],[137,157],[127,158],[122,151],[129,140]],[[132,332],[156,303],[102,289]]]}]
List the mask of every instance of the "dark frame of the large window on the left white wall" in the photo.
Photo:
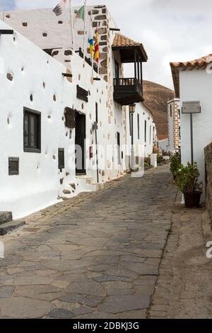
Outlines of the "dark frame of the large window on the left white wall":
[{"label": "dark frame of the large window on the left white wall", "polygon": [[[37,117],[37,148],[30,147],[30,123],[28,122],[28,145],[25,145],[25,115]],[[23,151],[41,153],[41,112],[31,108],[23,108]]]}]

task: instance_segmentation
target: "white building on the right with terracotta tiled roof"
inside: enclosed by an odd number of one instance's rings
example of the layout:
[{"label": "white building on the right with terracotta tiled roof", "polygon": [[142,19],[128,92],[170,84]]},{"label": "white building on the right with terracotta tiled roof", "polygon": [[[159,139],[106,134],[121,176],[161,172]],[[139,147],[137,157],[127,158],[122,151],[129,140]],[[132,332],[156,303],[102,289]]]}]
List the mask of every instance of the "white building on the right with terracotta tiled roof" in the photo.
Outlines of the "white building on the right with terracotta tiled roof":
[{"label": "white building on the right with terracotta tiled roof", "polygon": [[[201,113],[193,115],[194,162],[200,169],[200,180],[205,181],[204,147],[212,141],[212,98],[211,98],[211,60],[212,55],[190,62],[172,62],[172,77],[175,94],[182,102],[200,101]],[[181,152],[182,163],[191,162],[190,115],[181,114]]]}]

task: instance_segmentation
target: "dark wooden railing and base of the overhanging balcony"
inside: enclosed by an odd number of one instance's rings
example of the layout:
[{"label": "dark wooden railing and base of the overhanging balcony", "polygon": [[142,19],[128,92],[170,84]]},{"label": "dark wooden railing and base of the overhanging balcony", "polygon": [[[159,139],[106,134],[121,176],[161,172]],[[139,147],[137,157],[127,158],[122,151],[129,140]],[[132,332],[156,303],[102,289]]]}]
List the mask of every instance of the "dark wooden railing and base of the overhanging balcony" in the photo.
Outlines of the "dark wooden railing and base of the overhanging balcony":
[{"label": "dark wooden railing and base of the overhanging balcony", "polygon": [[114,101],[127,106],[143,101],[141,81],[135,78],[114,79]]}]

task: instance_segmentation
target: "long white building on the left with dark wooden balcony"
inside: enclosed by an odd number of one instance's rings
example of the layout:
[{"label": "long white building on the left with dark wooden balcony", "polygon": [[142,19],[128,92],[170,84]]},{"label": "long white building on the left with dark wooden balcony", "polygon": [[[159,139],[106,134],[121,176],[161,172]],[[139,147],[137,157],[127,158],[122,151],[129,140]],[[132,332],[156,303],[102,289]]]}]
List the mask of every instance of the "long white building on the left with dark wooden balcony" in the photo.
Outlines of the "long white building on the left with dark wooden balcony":
[{"label": "long white building on the left with dark wooden balcony", "polygon": [[[52,9],[8,12],[4,14],[8,24],[0,21],[1,30],[16,29],[0,37],[4,86],[0,92],[0,211],[12,211],[13,218],[64,196],[95,191],[98,183],[124,175],[129,156],[126,106],[131,103],[137,103],[141,121],[141,135],[136,130],[135,135],[145,141],[146,124],[145,154],[152,152],[153,116],[140,103],[146,52],[141,43],[111,30],[116,26],[105,6],[93,11],[93,26],[100,22],[102,29],[100,77],[71,49],[68,13],[58,18]],[[81,30],[76,29],[76,36],[81,38]],[[78,47],[80,38],[75,41]],[[134,62],[134,78],[123,78],[124,62]],[[76,146],[84,152],[82,166],[75,162]]]}]

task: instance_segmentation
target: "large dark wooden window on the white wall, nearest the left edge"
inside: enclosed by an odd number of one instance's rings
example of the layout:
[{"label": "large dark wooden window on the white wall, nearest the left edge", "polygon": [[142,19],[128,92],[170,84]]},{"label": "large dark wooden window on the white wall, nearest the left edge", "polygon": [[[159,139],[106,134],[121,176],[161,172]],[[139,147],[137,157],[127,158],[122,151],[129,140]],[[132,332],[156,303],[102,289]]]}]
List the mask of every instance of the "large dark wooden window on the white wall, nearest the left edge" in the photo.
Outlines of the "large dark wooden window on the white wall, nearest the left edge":
[{"label": "large dark wooden window on the white wall, nearest the left edge", "polygon": [[23,150],[24,152],[41,152],[40,147],[41,113],[23,109]]}]

